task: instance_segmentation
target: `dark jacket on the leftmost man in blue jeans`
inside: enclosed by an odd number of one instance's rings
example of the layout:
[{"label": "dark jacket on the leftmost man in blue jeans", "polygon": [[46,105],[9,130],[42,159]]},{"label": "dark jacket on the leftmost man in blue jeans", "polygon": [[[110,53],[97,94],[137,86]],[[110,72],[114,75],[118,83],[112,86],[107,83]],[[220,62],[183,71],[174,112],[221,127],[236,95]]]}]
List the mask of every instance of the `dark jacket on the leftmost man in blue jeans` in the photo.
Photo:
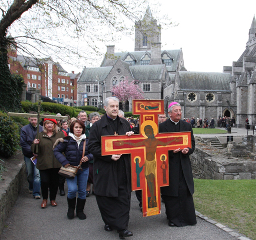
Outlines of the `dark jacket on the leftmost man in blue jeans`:
[{"label": "dark jacket on the leftmost man in blue jeans", "polygon": [[[43,127],[39,125],[39,132],[41,131],[43,131]],[[22,152],[25,156],[29,158],[34,156],[30,147],[32,142],[36,138],[36,135],[37,135],[37,127],[33,126],[31,123],[21,128],[20,143],[22,147]]]}]

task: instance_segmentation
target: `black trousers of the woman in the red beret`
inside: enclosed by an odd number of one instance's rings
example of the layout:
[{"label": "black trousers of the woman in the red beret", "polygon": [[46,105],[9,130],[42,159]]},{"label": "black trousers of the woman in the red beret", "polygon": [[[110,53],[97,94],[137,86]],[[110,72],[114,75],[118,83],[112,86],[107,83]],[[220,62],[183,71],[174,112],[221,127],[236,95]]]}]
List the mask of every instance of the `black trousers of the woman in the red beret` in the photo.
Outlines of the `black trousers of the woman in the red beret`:
[{"label": "black trousers of the woman in the red beret", "polygon": [[50,200],[56,199],[59,184],[59,169],[60,168],[48,168],[45,170],[39,170],[41,177],[41,191],[43,199],[48,199],[49,188]]}]

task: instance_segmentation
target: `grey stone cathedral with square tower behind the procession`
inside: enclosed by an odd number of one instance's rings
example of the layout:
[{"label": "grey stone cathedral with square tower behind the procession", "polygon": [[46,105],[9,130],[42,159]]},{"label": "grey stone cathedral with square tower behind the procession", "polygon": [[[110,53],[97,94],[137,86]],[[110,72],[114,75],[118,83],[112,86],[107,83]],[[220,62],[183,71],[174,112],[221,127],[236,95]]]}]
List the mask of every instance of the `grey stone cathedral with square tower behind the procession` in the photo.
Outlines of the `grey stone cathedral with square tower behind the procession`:
[{"label": "grey stone cathedral with square tower behind the procession", "polygon": [[[182,48],[162,49],[161,25],[148,7],[144,18],[136,21],[135,51],[115,52],[114,45],[108,45],[99,67],[84,67],[77,81],[78,104],[102,107],[104,99],[112,96],[112,86],[126,77],[139,81],[145,99],[164,99],[166,112],[171,101],[178,101],[183,117],[234,116],[238,126],[246,118],[256,124],[255,59],[253,17],[246,49],[232,66],[224,66],[223,72],[188,71]],[[121,107],[131,111],[132,99]]]}]

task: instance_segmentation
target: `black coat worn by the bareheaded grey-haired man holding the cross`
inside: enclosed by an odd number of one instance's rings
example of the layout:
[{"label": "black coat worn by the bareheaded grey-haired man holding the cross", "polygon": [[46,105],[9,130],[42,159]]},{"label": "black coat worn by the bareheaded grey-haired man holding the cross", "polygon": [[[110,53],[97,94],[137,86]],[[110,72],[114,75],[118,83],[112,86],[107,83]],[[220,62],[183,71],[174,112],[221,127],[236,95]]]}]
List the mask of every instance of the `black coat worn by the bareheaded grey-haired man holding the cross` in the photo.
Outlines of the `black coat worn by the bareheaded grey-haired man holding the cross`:
[{"label": "black coat worn by the bareheaded grey-haired man holding the cross", "polygon": [[[117,116],[118,117],[118,116]],[[119,118],[118,133],[119,135],[131,131],[131,126],[124,118]],[[90,129],[89,136],[89,152],[94,156],[93,163],[93,184],[96,195],[101,196],[118,196],[118,182],[117,182],[117,161],[111,159],[112,155],[101,155],[101,136],[114,135],[114,131],[107,120],[106,114],[101,119],[94,122]],[[125,173],[127,176],[128,192],[131,188],[131,157],[130,154],[123,154],[125,162]],[[119,159],[120,160],[120,159]],[[121,173],[119,173],[121,174]]]}]

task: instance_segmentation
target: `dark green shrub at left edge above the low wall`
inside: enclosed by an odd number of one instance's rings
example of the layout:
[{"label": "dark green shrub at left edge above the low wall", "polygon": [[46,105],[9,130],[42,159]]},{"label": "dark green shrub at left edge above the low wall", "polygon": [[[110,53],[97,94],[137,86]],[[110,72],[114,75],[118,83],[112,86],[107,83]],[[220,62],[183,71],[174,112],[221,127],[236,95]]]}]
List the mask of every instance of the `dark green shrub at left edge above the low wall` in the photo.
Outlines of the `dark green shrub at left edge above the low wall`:
[{"label": "dark green shrub at left edge above the low wall", "polygon": [[0,125],[0,155],[10,157],[19,147],[20,127],[3,112],[0,112]]}]

